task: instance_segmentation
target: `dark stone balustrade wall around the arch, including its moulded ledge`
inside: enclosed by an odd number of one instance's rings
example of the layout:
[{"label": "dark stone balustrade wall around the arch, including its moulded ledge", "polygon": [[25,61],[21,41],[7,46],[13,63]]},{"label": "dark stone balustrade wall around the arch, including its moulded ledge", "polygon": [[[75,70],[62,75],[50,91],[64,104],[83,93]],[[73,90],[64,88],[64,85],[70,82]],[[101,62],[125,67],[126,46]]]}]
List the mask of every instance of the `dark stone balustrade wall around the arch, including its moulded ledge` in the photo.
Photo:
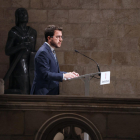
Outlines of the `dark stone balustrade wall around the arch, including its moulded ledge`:
[{"label": "dark stone balustrade wall around the arch, including its moulded ledge", "polygon": [[77,114],[88,119],[102,140],[139,140],[139,102],[140,99],[0,95],[0,140],[39,140],[35,136],[45,133],[46,122],[53,124],[60,119],[56,115],[64,113],[67,118]]}]

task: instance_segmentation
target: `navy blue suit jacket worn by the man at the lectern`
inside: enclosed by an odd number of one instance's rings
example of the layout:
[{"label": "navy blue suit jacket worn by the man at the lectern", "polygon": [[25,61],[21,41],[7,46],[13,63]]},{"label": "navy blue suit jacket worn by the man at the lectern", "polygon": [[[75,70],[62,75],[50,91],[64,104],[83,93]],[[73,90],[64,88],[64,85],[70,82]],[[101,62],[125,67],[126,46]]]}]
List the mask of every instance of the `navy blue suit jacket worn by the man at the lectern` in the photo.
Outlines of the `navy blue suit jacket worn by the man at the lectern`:
[{"label": "navy blue suit jacket worn by the man at the lectern", "polygon": [[58,95],[59,82],[63,80],[50,47],[44,43],[35,55],[35,76],[30,94]]}]

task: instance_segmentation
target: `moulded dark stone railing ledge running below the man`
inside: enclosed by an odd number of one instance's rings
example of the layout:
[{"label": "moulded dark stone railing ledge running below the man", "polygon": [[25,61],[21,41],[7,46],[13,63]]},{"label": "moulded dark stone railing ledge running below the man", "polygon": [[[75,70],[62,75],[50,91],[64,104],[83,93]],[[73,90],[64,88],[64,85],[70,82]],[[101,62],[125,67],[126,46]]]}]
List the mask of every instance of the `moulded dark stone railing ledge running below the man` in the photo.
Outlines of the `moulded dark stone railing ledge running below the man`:
[{"label": "moulded dark stone railing ledge running below the man", "polygon": [[140,113],[140,99],[9,94],[0,95],[0,110]]}]

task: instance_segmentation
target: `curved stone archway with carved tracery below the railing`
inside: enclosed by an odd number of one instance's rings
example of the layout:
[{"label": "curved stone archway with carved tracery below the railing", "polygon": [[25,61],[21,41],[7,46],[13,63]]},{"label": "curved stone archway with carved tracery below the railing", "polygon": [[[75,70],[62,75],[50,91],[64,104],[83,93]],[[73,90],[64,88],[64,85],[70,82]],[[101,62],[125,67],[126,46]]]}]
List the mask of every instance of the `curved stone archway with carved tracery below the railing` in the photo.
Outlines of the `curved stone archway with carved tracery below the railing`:
[{"label": "curved stone archway with carved tracery below the railing", "polygon": [[81,140],[74,131],[75,127],[89,134],[91,140],[102,140],[100,132],[91,121],[74,113],[62,113],[47,120],[38,130],[35,140],[53,140],[54,136],[58,132],[62,133],[66,127],[70,128],[70,133],[64,140]]}]

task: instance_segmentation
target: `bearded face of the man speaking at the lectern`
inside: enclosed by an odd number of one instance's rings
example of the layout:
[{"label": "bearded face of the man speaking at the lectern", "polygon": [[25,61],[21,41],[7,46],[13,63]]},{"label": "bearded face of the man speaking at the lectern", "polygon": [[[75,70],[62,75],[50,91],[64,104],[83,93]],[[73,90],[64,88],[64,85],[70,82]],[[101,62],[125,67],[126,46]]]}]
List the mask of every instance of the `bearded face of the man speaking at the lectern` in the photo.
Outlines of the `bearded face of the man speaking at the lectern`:
[{"label": "bearded face of the man speaking at the lectern", "polygon": [[55,30],[53,37],[50,38],[50,45],[54,48],[60,48],[62,41],[62,31]]}]

